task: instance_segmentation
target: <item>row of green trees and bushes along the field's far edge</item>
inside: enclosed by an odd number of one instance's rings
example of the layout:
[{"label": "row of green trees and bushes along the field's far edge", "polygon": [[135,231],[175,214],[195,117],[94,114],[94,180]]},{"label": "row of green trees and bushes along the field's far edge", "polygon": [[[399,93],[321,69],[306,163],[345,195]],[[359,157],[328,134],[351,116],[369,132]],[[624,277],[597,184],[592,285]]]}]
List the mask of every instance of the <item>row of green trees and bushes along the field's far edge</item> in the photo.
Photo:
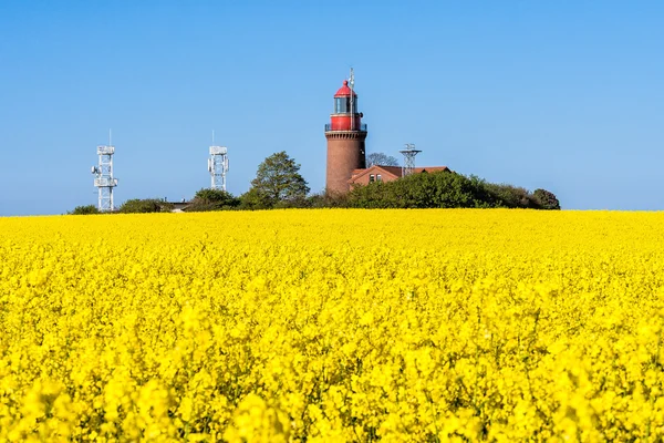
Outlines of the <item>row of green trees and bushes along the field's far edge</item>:
[{"label": "row of green trees and bushes along the field's far edge", "polygon": [[[376,153],[367,164],[395,166],[396,159]],[[282,151],[259,166],[249,190],[240,196],[220,189],[200,189],[185,212],[277,208],[529,208],[560,209],[556,195],[546,189],[529,192],[507,184],[488,183],[454,172],[419,173],[394,182],[355,186],[346,194],[309,194],[300,165]],[[173,205],[158,198],[129,199],[118,213],[170,212]],[[97,214],[94,205],[79,206],[70,214]]]}]

